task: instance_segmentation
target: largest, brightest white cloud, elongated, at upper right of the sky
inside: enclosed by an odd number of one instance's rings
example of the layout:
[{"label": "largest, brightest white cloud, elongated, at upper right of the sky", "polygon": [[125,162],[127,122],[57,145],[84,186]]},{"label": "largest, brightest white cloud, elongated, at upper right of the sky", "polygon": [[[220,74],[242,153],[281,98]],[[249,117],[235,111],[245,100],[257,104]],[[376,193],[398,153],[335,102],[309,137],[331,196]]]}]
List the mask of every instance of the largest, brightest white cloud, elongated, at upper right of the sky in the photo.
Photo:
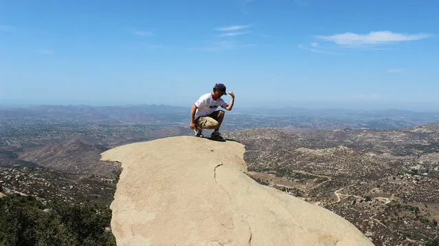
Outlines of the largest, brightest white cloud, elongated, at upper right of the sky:
[{"label": "largest, brightest white cloud, elongated, at upper right of the sky", "polygon": [[431,37],[431,34],[396,34],[394,32],[370,32],[369,34],[354,34],[346,32],[344,34],[335,34],[333,36],[315,36],[327,41],[335,42],[337,45],[376,45],[389,42],[403,42],[420,40]]}]

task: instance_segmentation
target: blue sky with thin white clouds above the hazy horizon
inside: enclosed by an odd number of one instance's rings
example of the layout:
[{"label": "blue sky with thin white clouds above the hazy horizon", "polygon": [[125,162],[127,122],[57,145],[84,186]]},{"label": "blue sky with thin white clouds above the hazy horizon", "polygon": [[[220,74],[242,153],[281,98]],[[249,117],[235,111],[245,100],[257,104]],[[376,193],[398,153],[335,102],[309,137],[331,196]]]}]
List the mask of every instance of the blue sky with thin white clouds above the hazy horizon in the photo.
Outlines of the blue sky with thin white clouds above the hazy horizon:
[{"label": "blue sky with thin white clouds above the hazy horizon", "polygon": [[439,105],[438,9],[0,0],[0,102],[190,106],[221,82],[241,106]]}]

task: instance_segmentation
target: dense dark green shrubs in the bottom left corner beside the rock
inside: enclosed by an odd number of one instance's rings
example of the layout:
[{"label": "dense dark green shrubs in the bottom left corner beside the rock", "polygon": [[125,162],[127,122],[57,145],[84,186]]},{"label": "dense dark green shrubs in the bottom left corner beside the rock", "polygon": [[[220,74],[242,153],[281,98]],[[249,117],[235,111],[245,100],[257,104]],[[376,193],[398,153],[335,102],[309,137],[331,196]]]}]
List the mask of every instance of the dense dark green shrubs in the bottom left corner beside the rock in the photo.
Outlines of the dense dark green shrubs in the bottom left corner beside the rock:
[{"label": "dense dark green shrubs in the bottom left corner beside the rock", "polygon": [[0,211],[0,245],[115,245],[105,231],[111,210],[101,201],[56,200],[45,207],[34,197],[8,195],[0,199]]}]

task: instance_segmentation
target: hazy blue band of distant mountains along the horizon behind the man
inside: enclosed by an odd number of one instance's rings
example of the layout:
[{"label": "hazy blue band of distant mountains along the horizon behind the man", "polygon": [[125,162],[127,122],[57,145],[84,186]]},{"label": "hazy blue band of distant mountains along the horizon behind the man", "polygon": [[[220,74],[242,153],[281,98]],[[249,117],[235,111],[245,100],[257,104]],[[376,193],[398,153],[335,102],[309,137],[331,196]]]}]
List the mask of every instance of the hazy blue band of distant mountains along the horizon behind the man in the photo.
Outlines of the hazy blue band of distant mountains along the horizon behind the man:
[{"label": "hazy blue band of distant mountains along the horizon behind the man", "polygon": [[[439,121],[439,112],[409,110],[341,110],[305,108],[239,108],[226,112],[227,130],[253,127],[309,129],[403,128]],[[190,106],[32,106],[0,110],[1,120],[38,119],[70,123],[137,123],[155,125],[189,124]],[[0,120],[0,121],[1,121]]]}]

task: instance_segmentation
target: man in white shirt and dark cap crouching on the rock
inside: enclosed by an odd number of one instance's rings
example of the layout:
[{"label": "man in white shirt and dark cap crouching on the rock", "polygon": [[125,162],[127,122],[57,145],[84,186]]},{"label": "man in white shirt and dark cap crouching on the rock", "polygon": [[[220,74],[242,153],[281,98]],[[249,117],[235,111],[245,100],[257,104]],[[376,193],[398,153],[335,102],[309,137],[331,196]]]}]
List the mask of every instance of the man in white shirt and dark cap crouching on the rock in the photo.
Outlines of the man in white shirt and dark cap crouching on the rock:
[{"label": "man in white shirt and dark cap crouching on the rock", "polygon": [[201,134],[201,130],[214,129],[210,139],[225,141],[218,131],[224,119],[224,111],[215,110],[218,106],[229,111],[232,110],[235,95],[232,91],[229,91],[229,95],[232,96],[229,104],[225,103],[221,98],[223,95],[227,95],[225,85],[215,84],[212,93],[202,95],[198,101],[192,105],[192,110],[190,110],[190,129],[194,130],[195,136],[202,138],[203,134]]}]

